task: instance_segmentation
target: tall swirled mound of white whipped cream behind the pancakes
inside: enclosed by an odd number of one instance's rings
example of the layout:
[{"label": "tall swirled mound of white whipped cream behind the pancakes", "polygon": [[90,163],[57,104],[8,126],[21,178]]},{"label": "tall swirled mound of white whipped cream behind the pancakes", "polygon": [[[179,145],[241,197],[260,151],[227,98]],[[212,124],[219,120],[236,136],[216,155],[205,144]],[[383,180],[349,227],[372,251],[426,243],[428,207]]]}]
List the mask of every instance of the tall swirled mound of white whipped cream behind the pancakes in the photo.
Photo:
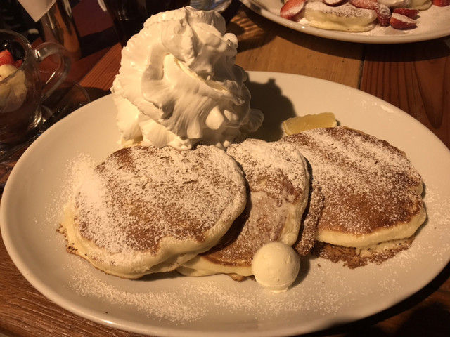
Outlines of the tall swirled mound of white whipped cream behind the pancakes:
[{"label": "tall swirled mound of white whipped cream behind the pancakes", "polygon": [[225,148],[259,128],[262,113],[250,109],[247,75],[235,65],[237,45],[216,11],[152,15],[122,49],[111,88],[122,140]]}]

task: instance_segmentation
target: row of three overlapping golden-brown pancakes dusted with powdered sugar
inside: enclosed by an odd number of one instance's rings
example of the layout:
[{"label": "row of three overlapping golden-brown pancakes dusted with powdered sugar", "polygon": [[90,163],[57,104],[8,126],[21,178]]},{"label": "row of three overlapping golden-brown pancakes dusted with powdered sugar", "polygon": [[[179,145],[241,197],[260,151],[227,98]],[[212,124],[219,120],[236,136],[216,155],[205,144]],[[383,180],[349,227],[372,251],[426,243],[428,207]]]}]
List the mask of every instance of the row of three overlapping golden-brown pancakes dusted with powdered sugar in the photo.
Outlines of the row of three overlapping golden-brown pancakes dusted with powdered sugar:
[{"label": "row of three overlapping golden-brown pancakes dusted with powdered sugar", "polygon": [[252,275],[273,241],[349,267],[409,247],[426,214],[404,152],[345,127],[226,152],[128,147],[79,183],[61,231],[68,251],[113,275]]}]

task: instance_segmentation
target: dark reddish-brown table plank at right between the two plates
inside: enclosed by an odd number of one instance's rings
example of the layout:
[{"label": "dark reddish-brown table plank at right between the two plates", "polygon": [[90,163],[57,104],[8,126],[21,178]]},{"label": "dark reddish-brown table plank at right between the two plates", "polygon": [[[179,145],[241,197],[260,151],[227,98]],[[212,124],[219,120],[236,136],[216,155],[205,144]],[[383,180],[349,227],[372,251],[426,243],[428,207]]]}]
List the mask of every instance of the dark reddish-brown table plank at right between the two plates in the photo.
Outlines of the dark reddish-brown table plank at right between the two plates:
[{"label": "dark reddish-brown table plank at right between the two plates", "polygon": [[366,46],[361,90],[408,112],[450,147],[450,38]]}]

